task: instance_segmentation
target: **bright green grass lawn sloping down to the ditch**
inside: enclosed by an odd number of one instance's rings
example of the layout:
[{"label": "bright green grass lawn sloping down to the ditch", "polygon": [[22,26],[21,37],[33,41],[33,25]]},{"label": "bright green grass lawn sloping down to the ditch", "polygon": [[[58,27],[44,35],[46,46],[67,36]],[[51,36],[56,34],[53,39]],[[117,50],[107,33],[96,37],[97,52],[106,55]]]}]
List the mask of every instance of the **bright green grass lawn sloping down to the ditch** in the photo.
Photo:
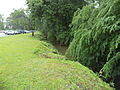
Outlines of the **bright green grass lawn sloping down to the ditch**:
[{"label": "bright green grass lawn sloping down to the ditch", "polygon": [[0,90],[111,90],[88,68],[30,34],[0,38]]}]

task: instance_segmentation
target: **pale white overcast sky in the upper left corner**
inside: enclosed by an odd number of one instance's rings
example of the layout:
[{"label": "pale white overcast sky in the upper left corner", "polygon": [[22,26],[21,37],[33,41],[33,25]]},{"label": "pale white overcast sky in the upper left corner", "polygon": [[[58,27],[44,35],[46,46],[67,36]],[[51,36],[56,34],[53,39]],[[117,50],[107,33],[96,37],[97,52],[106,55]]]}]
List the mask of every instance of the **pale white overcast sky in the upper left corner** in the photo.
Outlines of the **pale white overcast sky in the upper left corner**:
[{"label": "pale white overcast sky in the upper left corner", "polygon": [[13,9],[26,8],[26,0],[0,0],[0,14],[8,17]]}]

